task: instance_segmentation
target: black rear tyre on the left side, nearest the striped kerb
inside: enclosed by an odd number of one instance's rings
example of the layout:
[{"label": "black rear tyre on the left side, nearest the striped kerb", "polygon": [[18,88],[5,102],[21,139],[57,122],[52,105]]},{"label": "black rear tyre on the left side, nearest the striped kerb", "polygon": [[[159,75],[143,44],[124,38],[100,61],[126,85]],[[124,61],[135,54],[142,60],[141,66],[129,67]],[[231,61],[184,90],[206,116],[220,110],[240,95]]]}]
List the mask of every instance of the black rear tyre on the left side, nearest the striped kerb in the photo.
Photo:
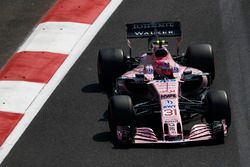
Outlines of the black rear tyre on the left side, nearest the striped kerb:
[{"label": "black rear tyre on the left side, nearest the striped kerb", "polygon": [[100,49],[97,59],[98,80],[101,88],[112,88],[114,80],[125,72],[125,56],[121,49]]}]

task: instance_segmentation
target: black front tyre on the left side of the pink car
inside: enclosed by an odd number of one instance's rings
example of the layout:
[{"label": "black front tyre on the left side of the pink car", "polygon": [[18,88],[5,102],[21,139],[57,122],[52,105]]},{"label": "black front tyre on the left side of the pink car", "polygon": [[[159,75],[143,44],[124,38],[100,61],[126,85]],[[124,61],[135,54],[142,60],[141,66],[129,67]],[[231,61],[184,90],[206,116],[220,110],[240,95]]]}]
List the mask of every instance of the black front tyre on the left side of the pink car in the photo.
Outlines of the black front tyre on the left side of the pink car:
[{"label": "black front tyre on the left side of the pink car", "polygon": [[[135,113],[133,110],[132,100],[127,95],[116,95],[111,97],[108,107],[108,122],[112,136],[117,142],[116,127],[130,126],[135,124]],[[123,141],[127,145],[131,141]],[[119,143],[121,145],[121,143]]]}]

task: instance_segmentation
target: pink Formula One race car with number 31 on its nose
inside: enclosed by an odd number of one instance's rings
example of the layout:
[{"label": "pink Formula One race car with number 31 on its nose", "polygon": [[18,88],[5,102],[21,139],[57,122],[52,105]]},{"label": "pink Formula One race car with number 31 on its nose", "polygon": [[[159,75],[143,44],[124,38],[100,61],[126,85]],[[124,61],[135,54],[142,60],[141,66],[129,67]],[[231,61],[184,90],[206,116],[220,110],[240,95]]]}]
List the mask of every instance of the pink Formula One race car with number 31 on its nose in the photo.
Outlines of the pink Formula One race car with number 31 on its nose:
[{"label": "pink Formula One race car with number 31 on its nose", "polygon": [[[210,90],[215,78],[211,45],[193,44],[179,54],[180,22],[126,26],[129,55],[113,48],[98,54],[99,83],[114,94],[108,122],[116,142],[223,142],[231,114],[226,92]],[[169,52],[170,37],[177,39],[176,55]],[[148,51],[133,57],[132,38],[147,38]]]}]

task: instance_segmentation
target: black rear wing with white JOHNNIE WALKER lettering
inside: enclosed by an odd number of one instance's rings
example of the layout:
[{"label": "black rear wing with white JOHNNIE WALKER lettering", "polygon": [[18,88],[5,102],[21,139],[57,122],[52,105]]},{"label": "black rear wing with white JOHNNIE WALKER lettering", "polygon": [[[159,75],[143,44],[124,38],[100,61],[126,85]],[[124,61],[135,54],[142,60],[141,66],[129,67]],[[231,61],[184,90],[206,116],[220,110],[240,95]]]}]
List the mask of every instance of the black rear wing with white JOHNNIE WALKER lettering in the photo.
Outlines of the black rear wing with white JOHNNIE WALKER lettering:
[{"label": "black rear wing with white JOHNNIE WALKER lettering", "polygon": [[178,21],[126,24],[127,38],[181,37]]}]

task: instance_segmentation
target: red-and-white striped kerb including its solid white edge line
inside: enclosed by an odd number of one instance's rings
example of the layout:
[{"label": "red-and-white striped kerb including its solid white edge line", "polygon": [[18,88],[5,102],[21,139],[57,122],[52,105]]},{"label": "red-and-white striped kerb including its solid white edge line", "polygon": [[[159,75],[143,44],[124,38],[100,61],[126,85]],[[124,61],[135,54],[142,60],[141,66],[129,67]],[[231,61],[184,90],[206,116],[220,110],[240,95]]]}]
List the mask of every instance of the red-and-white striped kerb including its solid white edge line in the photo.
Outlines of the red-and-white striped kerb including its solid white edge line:
[{"label": "red-and-white striped kerb including its solid white edge line", "polygon": [[122,0],[58,0],[0,71],[0,163]]}]

